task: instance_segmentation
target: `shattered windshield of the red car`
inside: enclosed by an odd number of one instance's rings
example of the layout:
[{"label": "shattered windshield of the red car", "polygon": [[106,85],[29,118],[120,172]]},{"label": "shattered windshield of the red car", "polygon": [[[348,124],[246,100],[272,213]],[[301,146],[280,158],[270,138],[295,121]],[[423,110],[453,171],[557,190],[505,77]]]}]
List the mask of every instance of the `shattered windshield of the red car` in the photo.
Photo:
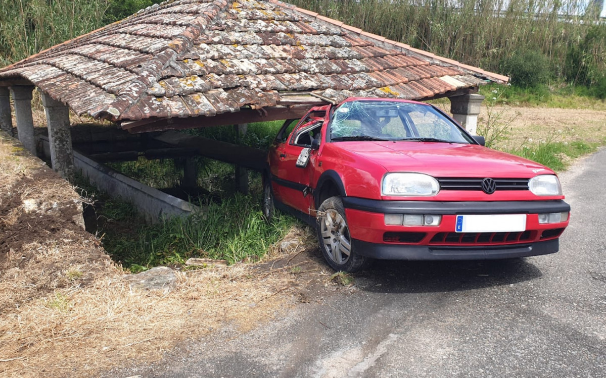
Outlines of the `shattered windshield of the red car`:
[{"label": "shattered windshield of the red car", "polygon": [[433,106],[396,101],[351,101],[335,109],[333,142],[346,140],[471,143],[457,125]]}]

